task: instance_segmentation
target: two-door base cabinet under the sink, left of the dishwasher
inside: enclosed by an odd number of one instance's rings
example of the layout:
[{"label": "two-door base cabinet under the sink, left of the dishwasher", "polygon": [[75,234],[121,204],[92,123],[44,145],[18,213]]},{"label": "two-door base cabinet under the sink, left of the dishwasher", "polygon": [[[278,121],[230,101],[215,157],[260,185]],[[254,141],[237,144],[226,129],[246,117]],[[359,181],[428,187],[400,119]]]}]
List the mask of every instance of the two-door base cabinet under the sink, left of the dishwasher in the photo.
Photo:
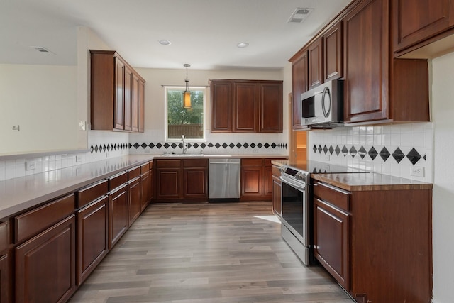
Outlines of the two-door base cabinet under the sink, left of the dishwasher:
[{"label": "two-door base cabinet under the sink, left of the dishwasher", "polygon": [[208,160],[156,159],[156,200],[167,202],[208,199]]}]

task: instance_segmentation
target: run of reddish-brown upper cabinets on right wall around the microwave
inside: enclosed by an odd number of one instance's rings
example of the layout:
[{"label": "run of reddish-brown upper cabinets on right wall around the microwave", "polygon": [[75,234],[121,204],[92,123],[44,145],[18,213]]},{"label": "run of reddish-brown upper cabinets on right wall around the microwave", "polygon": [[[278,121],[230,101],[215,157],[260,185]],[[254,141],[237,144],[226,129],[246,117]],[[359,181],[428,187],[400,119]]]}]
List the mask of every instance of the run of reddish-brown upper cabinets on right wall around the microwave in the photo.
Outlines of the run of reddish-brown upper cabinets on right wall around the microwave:
[{"label": "run of reddish-brown upper cabinets on right wall around the microwave", "polygon": [[[421,3],[428,1],[416,2],[423,11]],[[398,26],[389,26],[391,18],[394,23],[402,22],[397,16],[411,5],[404,0],[352,1],[289,60],[293,129],[301,128],[301,92],[337,78],[345,80],[346,124],[430,121],[427,60],[393,55]],[[446,12],[447,4],[443,5]],[[397,13],[399,9],[402,13]],[[435,18],[430,11],[421,13]],[[409,25],[405,22],[404,26]]]}]

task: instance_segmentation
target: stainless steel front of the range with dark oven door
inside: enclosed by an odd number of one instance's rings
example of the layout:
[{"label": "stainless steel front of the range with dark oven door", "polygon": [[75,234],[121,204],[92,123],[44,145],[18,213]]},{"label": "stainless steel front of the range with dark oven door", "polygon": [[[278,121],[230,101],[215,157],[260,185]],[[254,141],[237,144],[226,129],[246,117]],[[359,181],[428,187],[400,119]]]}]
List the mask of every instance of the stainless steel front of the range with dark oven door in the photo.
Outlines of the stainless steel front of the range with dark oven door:
[{"label": "stainless steel front of the range with dark oven door", "polygon": [[309,172],[281,167],[282,226],[281,236],[304,265],[311,265],[311,226],[309,209]]}]

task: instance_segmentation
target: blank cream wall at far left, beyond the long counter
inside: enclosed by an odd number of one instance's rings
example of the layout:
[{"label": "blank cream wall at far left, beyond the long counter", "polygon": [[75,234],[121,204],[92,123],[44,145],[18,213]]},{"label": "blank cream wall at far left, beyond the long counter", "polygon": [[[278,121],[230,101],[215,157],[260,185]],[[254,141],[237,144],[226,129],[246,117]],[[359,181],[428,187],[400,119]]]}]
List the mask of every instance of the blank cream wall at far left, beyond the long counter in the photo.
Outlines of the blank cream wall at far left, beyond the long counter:
[{"label": "blank cream wall at far left, beyond the long counter", "polygon": [[0,65],[0,155],[77,148],[76,75],[76,66]]}]

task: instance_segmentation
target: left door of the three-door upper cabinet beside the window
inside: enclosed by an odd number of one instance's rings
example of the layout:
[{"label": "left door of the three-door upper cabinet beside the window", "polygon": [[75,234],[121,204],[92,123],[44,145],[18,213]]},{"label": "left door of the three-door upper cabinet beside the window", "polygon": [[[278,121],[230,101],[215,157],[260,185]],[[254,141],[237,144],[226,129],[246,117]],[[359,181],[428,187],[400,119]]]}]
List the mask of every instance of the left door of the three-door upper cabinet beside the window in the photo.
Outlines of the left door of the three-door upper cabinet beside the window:
[{"label": "left door of the three-door upper cabinet beside the window", "polygon": [[211,132],[233,131],[233,84],[211,82]]}]

